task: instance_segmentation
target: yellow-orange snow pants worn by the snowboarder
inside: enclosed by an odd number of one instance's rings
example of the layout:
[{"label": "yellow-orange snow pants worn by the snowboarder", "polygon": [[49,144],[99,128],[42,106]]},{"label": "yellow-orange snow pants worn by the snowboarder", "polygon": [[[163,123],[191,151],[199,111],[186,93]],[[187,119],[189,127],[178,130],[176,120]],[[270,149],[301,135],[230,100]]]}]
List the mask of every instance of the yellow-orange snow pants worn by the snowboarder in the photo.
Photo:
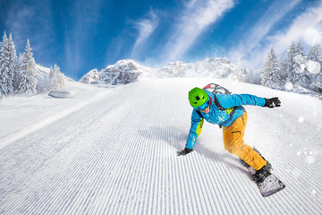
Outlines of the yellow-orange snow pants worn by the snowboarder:
[{"label": "yellow-orange snow pants worn by the snowboarder", "polygon": [[263,159],[258,152],[244,143],[243,136],[245,133],[246,124],[247,113],[245,111],[241,117],[233,121],[232,125],[223,127],[225,150],[227,150],[229,153],[237,155],[252,168],[258,170],[267,165],[267,161]]}]

